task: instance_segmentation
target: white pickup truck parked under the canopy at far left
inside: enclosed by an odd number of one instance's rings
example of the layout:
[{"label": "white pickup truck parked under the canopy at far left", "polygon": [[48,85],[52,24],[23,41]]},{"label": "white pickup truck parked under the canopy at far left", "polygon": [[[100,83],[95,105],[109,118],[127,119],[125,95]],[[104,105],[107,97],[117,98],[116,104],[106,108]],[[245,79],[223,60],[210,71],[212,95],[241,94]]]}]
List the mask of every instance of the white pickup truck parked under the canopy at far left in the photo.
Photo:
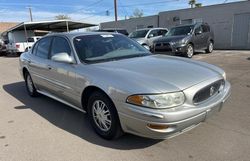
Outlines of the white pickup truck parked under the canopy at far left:
[{"label": "white pickup truck parked under the canopy at far left", "polygon": [[9,42],[7,44],[7,53],[18,53],[21,54],[28,51],[31,46],[41,38],[41,36],[33,36],[27,39],[27,42]]}]

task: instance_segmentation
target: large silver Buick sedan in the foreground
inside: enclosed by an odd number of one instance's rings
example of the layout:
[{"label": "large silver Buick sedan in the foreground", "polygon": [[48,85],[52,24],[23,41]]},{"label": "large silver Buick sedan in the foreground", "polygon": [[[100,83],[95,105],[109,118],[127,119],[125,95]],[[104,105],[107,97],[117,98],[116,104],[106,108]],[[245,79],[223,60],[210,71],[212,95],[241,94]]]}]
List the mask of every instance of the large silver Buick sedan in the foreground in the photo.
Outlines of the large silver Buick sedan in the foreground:
[{"label": "large silver Buick sedan in the foreground", "polygon": [[180,134],[220,111],[231,88],[214,65],[151,54],[115,33],[43,37],[21,55],[20,72],[30,96],[87,112],[105,139]]}]

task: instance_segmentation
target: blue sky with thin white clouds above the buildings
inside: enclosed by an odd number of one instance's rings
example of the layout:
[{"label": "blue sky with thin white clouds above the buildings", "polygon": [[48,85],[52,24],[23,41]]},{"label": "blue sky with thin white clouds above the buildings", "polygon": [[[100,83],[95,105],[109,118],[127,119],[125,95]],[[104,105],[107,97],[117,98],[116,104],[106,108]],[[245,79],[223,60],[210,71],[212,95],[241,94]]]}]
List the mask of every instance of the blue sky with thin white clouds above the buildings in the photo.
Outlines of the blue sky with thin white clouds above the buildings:
[{"label": "blue sky with thin white clouds above the buildings", "polygon": [[[203,6],[224,3],[225,0],[196,0]],[[226,3],[240,0],[227,0]],[[72,20],[98,24],[114,20],[114,0],[0,0],[0,22],[29,21],[28,7],[34,21],[53,20],[64,14]],[[117,0],[118,19],[133,15],[135,9],[144,16],[160,11],[189,8],[188,0]],[[107,12],[109,15],[107,15]]]}]

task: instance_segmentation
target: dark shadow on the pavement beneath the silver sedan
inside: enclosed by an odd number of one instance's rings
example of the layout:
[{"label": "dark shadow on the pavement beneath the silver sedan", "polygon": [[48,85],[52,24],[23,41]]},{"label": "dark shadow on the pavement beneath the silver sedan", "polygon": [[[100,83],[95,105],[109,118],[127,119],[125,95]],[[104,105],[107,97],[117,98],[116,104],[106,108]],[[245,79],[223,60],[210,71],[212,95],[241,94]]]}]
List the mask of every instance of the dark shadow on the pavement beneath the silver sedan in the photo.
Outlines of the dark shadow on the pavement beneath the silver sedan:
[{"label": "dark shadow on the pavement beneath the silver sedan", "polygon": [[53,125],[93,144],[113,149],[130,150],[149,147],[162,141],[130,134],[125,134],[117,140],[104,140],[94,132],[87,115],[43,95],[31,98],[26,94],[24,82],[6,84],[3,89],[24,104],[13,107],[16,110],[31,109]]}]

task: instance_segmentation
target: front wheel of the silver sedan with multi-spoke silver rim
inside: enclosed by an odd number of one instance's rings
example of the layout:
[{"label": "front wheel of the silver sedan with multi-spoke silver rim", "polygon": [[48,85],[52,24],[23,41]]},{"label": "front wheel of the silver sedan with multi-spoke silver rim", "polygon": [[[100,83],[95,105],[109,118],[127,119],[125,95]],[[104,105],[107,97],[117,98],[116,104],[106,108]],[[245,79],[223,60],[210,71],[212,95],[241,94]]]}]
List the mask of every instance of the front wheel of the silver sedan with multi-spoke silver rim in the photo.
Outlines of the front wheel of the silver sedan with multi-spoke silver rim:
[{"label": "front wheel of the silver sedan with multi-spoke silver rim", "polygon": [[112,140],[123,132],[113,102],[102,92],[94,92],[88,101],[88,115],[95,132],[104,139]]}]

